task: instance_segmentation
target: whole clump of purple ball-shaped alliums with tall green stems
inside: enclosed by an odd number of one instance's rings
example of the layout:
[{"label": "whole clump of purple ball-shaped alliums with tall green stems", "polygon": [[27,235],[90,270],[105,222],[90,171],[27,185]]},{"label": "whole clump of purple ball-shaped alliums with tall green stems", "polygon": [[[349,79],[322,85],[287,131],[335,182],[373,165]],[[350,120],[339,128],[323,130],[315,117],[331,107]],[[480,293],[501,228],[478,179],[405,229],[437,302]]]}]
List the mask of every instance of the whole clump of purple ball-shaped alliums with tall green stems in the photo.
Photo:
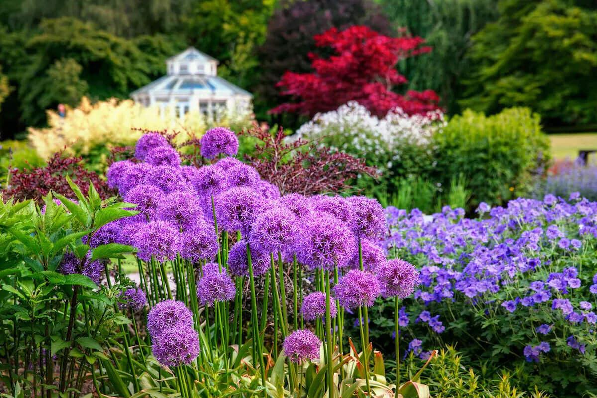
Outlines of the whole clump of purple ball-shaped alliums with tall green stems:
[{"label": "whole clump of purple ball-shaped alliums with tall green stems", "polygon": [[[232,157],[238,140],[227,129],[202,137],[201,167],[159,137],[144,135],[135,159],[112,163],[108,182],[124,199],[115,206],[134,215],[106,223],[91,239],[136,249],[139,286],[119,291],[119,308],[139,314],[149,307],[149,340],[135,324],[140,358],[131,357],[131,374],[149,377],[147,388],[158,394],[185,398],[213,388],[214,396],[277,396],[282,388],[318,398],[338,397],[352,383],[372,395],[410,388],[392,388],[380,365],[372,366],[378,359],[367,308],[382,286],[390,286],[388,295],[400,289],[401,298],[409,291],[396,287],[407,283],[402,274],[380,280],[387,263],[379,203],[281,196]],[[355,309],[365,319],[355,336],[360,353],[344,325],[345,311]],[[133,384],[130,394],[140,393]]]}]

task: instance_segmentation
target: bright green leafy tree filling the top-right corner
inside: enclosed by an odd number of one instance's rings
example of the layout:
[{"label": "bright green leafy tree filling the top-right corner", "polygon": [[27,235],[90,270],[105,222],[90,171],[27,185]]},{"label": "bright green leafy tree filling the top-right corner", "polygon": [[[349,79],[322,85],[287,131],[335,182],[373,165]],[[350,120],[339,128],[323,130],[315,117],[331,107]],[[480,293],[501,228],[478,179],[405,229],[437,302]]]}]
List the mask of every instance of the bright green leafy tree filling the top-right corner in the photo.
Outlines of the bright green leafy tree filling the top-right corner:
[{"label": "bright green leafy tree filling the top-right corner", "polygon": [[495,113],[530,107],[550,124],[597,121],[597,8],[575,0],[501,0],[473,36],[461,104]]}]

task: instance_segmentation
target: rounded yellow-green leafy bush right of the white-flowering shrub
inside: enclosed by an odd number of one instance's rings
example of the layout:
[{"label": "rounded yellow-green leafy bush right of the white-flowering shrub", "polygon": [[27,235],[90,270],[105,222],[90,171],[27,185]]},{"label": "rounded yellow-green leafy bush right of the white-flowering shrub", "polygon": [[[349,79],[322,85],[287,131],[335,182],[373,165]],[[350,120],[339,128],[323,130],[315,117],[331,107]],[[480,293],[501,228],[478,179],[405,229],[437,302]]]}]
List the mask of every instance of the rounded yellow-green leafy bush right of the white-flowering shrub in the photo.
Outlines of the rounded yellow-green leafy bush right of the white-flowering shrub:
[{"label": "rounded yellow-green leafy bush right of the white-flowering shrub", "polygon": [[529,109],[485,116],[466,110],[433,136],[432,175],[443,185],[464,175],[469,208],[498,205],[531,192],[538,170],[549,161],[549,140]]}]

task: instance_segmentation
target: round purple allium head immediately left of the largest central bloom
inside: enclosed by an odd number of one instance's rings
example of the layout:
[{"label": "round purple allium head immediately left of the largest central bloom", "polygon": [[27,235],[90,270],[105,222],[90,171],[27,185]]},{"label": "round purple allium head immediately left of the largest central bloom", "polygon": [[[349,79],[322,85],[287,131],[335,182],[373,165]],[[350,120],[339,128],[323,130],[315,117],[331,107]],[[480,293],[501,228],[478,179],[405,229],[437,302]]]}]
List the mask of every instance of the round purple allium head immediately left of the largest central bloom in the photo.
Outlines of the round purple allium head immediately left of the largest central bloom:
[{"label": "round purple allium head immediately left of the largest central bloom", "polygon": [[297,218],[285,208],[269,209],[257,215],[249,240],[268,253],[290,252],[297,241]]}]

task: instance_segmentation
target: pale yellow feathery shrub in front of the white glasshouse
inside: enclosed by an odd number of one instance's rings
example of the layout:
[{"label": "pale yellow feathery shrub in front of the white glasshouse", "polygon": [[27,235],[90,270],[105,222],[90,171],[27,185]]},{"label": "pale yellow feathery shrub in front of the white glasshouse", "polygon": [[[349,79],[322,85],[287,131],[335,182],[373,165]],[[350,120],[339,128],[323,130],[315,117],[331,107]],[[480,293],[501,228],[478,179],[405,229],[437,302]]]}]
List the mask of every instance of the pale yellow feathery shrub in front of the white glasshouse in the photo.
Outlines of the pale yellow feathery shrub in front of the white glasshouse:
[{"label": "pale yellow feathery shrub in front of the white glasshouse", "polygon": [[83,97],[75,109],[66,110],[61,118],[56,112],[48,111],[48,128],[29,128],[29,141],[39,156],[48,159],[54,152],[66,148],[72,155],[89,155],[97,146],[125,146],[134,144],[142,134],[134,129],[155,131],[182,131],[179,139],[187,133],[201,136],[214,125],[233,129],[250,127],[250,115],[224,115],[217,123],[208,120],[199,112],[189,112],[184,121],[173,112],[159,115],[157,107],[144,107],[132,100],[110,98],[91,104]]}]

